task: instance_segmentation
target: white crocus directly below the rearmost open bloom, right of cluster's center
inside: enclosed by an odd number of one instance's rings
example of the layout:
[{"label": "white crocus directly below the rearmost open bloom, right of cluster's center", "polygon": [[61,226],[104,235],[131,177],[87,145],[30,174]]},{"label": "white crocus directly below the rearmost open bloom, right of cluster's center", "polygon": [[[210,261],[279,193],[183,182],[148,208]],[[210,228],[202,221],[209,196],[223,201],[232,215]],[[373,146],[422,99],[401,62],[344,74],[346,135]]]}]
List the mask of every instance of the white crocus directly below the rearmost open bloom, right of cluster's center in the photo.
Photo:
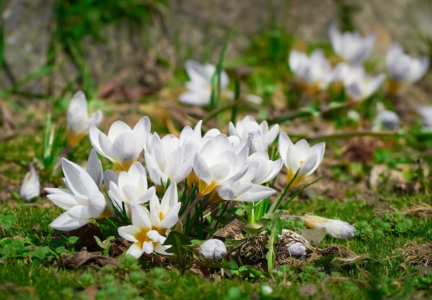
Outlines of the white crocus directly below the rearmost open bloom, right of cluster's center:
[{"label": "white crocus directly below the rearmost open bloom, right of cluster's center", "polygon": [[242,180],[249,181],[254,184],[264,184],[273,180],[280,170],[284,162],[282,158],[278,160],[270,160],[268,153],[255,152],[248,157],[249,168]]}]

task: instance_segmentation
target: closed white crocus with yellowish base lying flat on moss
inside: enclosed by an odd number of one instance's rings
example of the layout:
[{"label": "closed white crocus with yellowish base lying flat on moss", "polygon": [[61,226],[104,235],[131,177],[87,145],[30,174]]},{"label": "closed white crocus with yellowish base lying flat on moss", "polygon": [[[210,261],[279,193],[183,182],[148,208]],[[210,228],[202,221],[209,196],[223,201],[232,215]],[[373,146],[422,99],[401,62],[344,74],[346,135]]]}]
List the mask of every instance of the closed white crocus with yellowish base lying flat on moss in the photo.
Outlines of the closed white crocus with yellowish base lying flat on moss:
[{"label": "closed white crocus with yellowish base lying flat on moss", "polygon": [[325,228],[326,233],[337,239],[353,237],[355,233],[354,226],[340,219],[328,219],[317,215],[306,215],[301,219],[309,228]]}]

